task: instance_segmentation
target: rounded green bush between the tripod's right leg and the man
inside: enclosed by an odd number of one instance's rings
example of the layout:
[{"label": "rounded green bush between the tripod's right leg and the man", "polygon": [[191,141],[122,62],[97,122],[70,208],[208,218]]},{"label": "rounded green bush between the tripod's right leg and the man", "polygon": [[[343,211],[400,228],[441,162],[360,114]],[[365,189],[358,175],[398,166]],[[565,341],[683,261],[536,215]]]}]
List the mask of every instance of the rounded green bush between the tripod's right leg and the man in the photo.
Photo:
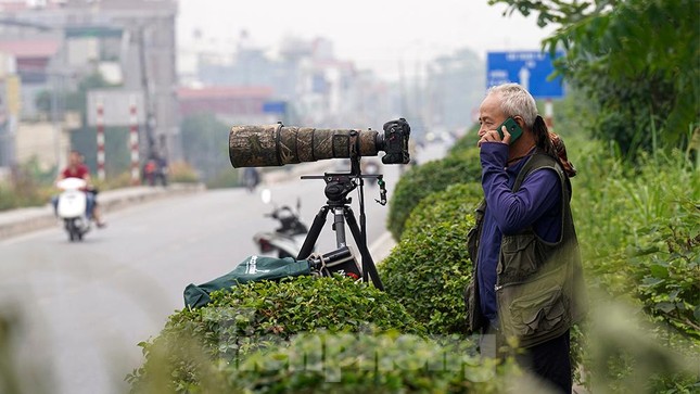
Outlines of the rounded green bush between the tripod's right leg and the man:
[{"label": "rounded green bush between the tripod's right leg and the man", "polygon": [[431,333],[467,333],[463,292],[472,271],[467,233],[480,199],[479,183],[453,185],[428,195],[379,266],[386,292]]}]

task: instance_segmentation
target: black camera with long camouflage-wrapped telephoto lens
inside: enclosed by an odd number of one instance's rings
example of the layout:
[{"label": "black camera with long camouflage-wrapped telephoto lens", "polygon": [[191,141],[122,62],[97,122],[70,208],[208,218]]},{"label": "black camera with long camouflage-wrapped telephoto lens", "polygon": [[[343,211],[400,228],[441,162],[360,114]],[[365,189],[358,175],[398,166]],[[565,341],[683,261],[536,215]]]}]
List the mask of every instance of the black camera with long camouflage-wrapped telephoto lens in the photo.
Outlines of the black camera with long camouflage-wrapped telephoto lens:
[{"label": "black camera with long camouflage-wrapped telephoto lens", "polygon": [[410,126],[404,118],[386,122],[376,130],[287,127],[281,123],[233,126],[229,132],[229,158],[239,167],[282,166],[326,158],[377,156],[384,164],[408,164]]}]

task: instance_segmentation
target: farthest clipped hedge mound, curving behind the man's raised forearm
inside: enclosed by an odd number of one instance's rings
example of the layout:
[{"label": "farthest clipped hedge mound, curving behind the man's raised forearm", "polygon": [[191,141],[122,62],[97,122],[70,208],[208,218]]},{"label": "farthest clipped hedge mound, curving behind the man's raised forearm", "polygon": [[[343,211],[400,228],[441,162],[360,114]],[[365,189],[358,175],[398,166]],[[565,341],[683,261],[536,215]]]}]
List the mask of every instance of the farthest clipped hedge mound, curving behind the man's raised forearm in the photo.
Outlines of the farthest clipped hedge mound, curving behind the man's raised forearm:
[{"label": "farthest clipped hedge mound, curving behind the man's raised forearm", "polygon": [[[413,207],[428,194],[453,183],[481,179],[481,163],[476,149],[424,163],[406,171],[390,200],[386,228],[395,240],[402,238],[404,226]],[[474,158],[475,157],[475,158]]]}]

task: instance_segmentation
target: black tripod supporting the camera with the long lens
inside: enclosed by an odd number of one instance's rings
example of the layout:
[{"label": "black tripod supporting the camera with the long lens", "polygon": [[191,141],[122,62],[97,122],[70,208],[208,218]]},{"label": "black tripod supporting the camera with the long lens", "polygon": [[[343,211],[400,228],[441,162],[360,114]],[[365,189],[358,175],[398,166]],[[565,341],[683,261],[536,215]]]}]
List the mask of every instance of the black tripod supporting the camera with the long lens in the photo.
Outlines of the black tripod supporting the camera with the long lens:
[{"label": "black tripod supporting the camera with the long lens", "polygon": [[[307,258],[313,250],[318,236],[326,224],[326,218],[330,211],[333,211],[333,231],[335,231],[335,242],[338,247],[347,246],[345,239],[345,221],[351,229],[351,233],[357,243],[359,249],[360,256],[362,257],[362,281],[368,281],[368,275],[371,277],[372,283],[379,290],[384,290],[379,274],[377,272],[377,267],[372,260],[372,256],[367,249],[367,230],[366,230],[366,218],[365,218],[365,195],[364,195],[364,179],[365,178],[377,178],[378,183],[381,190],[381,201],[378,200],[380,204],[386,204],[386,189],[384,188],[384,180],[382,175],[362,175],[359,169],[359,157],[351,158],[351,171],[349,173],[326,173],[322,176],[319,175],[307,175],[302,176],[302,179],[323,179],[326,181],[324,193],[328,198],[326,205],[323,205],[316,217],[314,217],[314,224],[304,240],[304,244],[296,256],[297,259]],[[349,207],[351,199],[347,198],[347,194],[355,190],[359,183],[359,208],[360,208],[360,226],[357,225],[355,219],[355,214]]]}]

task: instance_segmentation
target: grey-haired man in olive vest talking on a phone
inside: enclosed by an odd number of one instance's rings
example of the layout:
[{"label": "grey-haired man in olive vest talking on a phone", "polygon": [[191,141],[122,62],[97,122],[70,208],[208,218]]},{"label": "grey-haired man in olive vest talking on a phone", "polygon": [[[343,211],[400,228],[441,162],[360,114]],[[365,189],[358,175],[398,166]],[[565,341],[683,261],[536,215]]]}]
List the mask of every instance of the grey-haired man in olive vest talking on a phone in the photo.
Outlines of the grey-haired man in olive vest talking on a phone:
[{"label": "grey-haired man in olive vest talking on a phone", "polygon": [[[501,127],[509,118],[522,134]],[[475,268],[470,329],[481,332],[480,352],[488,357],[502,357],[507,339],[518,340],[519,365],[549,390],[570,394],[570,328],[584,313],[570,206],[575,169],[518,84],[491,88],[479,122],[484,203],[468,242]]]}]

